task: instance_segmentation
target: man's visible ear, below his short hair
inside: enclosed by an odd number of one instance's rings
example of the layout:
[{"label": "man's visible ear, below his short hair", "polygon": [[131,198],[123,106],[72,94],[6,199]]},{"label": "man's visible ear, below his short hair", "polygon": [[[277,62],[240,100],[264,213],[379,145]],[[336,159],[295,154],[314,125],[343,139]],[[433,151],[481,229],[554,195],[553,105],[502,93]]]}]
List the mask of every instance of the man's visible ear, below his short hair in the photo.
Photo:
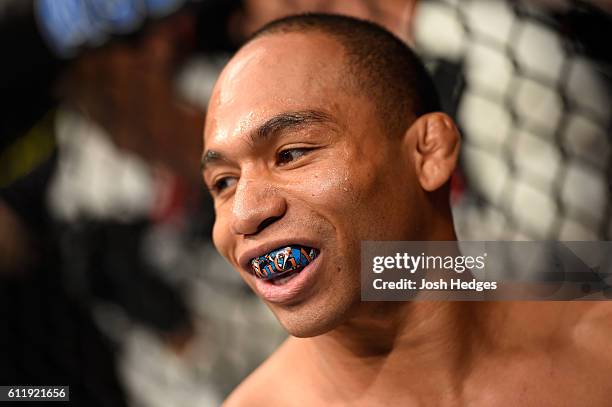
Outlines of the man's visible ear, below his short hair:
[{"label": "man's visible ear, below his short hair", "polygon": [[461,136],[444,113],[419,117],[408,130],[414,165],[421,187],[428,192],[443,186],[457,165]]}]

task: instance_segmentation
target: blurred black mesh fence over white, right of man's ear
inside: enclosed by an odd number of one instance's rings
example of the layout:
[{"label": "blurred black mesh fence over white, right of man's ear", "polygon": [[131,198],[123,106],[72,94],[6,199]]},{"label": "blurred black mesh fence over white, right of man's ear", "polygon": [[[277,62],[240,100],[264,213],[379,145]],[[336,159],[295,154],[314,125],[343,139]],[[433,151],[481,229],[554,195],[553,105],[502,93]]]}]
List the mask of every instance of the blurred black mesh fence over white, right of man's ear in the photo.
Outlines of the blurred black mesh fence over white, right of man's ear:
[{"label": "blurred black mesh fence over white, right of man's ear", "polygon": [[612,18],[553,3],[431,0],[417,14],[417,50],[464,138],[460,239],[610,239]]}]

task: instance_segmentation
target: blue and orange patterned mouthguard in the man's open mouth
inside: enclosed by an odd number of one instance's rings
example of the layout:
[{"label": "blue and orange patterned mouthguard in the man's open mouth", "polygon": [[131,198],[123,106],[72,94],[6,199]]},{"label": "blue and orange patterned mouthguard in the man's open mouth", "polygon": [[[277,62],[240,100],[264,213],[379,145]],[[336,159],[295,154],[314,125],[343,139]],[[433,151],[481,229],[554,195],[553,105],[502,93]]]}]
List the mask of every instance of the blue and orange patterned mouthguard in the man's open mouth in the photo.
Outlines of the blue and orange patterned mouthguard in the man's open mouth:
[{"label": "blue and orange patterned mouthguard in the man's open mouth", "polygon": [[251,259],[249,265],[255,277],[276,284],[302,271],[317,258],[319,252],[319,249],[313,247],[283,246]]}]

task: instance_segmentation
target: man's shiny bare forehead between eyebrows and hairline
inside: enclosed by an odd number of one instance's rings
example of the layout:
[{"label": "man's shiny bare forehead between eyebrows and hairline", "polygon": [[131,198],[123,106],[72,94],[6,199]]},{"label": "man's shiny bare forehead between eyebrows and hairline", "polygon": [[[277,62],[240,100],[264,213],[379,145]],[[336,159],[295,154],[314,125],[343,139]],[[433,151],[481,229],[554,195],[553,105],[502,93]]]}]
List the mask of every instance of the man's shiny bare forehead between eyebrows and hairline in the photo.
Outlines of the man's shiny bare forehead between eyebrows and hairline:
[{"label": "man's shiny bare forehead between eyebrows and hairline", "polygon": [[205,144],[243,134],[285,111],[316,109],[337,116],[344,90],[343,47],[326,35],[272,34],[244,47],[222,72],[210,101]]}]

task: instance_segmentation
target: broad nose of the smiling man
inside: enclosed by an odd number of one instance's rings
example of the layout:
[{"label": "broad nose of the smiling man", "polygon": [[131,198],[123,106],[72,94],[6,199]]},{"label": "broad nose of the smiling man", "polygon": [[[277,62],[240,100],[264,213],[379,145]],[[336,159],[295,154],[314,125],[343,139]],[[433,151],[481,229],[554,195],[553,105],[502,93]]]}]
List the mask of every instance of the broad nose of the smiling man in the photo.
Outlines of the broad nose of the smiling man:
[{"label": "broad nose of the smiling man", "polygon": [[234,234],[254,235],[283,217],[287,203],[273,186],[240,178],[234,193],[231,229]]}]

